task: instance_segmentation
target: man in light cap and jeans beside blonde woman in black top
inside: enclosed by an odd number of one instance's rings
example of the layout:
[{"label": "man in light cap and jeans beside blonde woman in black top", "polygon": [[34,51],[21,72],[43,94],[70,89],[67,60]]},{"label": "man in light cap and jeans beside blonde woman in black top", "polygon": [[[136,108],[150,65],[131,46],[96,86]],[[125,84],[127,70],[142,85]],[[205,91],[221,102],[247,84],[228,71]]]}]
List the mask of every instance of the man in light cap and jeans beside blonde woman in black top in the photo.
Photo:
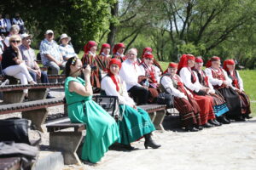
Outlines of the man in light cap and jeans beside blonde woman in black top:
[{"label": "man in light cap and jeans beside blonde woman in black top", "polygon": [[[20,54],[22,59],[25,61],[27,70],[32,76],[34,82],[37,82],[37,77],[41,78],[42,83],[49,83],[48,76],[44,71],[40,71],[38,63],[35,61],[36,54],[35,51],[30,48],[32,35],[26,33],[21,34],[22,44],[20,45]],[[47,99],[54,98],[49,93],[47,94]]]}]

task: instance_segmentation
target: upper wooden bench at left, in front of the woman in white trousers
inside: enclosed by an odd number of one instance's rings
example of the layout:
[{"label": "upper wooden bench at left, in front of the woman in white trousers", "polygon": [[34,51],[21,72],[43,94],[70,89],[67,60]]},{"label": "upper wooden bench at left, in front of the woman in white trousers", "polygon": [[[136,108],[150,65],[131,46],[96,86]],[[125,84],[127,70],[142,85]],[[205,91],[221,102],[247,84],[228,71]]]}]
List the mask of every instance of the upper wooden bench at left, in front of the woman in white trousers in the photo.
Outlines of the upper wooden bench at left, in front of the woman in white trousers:
[{"label": "upper wooden bench at left, in front of the woman in white trousers", "polygon": [[25,99],[23,89],[28,89],[28,99],[45,99],[48,94],[48,88],[63,88],[64,83],[38,83],[38,84],[15,84],[0,87],[3,92],[3,102],[6,104],[20,103]]}]

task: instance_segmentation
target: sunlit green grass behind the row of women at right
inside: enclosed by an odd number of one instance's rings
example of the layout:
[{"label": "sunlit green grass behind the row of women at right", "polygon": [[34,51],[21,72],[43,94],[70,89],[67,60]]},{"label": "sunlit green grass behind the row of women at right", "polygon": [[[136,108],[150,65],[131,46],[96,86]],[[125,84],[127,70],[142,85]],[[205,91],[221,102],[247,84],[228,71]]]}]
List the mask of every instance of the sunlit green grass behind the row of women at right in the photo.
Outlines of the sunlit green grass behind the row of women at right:
[{"label": "sunlit green grass behind the row of women at right", "polygon": [[[161,62],[160,65],[163,69],[163,71],[166,71],[166,68],[168,67],[168,62]],[[241,79],[243,81],[243,86],[246,94],[251,99],[251,110],[252,115],[256,116],[256,70],[244,70],[239,71],[239,74],[241,76]],[[253,101],[253,102],[252,102]]]}]

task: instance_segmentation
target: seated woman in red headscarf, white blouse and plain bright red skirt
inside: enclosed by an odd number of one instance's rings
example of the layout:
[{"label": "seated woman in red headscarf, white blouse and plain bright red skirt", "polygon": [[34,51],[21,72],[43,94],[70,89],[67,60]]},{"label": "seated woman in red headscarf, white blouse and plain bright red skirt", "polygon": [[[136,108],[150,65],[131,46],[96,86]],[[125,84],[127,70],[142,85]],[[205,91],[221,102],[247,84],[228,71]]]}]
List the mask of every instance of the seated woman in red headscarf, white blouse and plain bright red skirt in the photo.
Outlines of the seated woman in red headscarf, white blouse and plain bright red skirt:
[{"label": "seated woman in red headscarf, white blouse and plain bright red skirt", "polygon": [[212,127],[213,125],[208,123],[209,120],[215,119],[213,112],[213,99],[211,96],[205,94],[208,93],[210,88],[203,88],[198,86],[196,82],[195,72],[191,68],[195,64],[195,56],[192,54],[183,54],[177,65],[177,73],[183,80],[184,85],[193,94],[195,101],[200,106],[201,124],[204,127]]}]

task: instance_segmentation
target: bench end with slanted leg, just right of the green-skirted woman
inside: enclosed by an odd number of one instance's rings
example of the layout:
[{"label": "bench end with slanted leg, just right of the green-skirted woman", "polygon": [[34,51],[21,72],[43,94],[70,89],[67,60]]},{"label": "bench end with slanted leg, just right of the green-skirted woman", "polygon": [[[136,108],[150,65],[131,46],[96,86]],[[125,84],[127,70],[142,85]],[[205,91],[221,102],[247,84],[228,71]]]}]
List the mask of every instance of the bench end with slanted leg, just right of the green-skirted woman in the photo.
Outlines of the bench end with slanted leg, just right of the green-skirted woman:
[{"label": "bench end with slanted leg, just right of the green-skirted woman", "polygon": [[150,104],[138,105],[138,107],[148,112],[148,115],[150,116],[151,121],[154,123],[156,130],[165,131],[164,127],[162,126],[162,122],[166,116],[166,105]]}]

